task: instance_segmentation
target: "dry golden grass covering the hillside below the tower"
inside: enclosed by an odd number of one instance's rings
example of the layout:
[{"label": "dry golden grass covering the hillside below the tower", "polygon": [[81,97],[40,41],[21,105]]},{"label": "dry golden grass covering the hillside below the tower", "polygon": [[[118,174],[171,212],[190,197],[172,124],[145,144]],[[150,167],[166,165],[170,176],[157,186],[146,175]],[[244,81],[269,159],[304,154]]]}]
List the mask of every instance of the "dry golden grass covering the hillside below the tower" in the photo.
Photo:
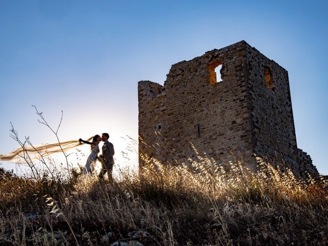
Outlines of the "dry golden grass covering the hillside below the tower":
[{"label": "dry golden grass covering the hillside below the tower", "polygon": [[108,183],[76,171],[72,181],[35,181],[1,169],[0,244],[326,245],[327,181],[263,161],[259,170],[149,160],[138,175]]}]

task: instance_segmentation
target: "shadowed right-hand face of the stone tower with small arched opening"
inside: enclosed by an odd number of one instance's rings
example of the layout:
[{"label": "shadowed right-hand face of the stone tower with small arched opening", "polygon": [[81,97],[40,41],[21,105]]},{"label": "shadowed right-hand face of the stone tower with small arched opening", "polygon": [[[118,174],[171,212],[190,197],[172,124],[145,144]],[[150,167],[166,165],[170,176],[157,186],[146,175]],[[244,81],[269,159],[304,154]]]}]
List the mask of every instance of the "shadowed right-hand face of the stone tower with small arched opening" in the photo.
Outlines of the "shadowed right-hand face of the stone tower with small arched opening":
[{"label": "shadowed right-hand face of the stone tower with small arched opening", "polygon": [[[288,72],[275,61],[247,46],[249,92],[255,152],[296,156],[297,144]],[[270,71],[271,87],[265,83]]]}]

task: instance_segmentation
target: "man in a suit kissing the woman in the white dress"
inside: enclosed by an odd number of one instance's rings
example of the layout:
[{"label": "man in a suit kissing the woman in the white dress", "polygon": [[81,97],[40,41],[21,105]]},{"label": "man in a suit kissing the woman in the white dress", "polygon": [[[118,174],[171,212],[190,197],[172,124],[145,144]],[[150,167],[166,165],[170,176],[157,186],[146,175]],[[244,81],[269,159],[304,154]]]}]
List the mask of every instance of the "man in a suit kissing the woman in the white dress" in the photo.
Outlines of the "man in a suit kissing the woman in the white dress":
[{"label": "man in a suit kissing the woman in the white dress", "polygon": [[103,155],[106,156],[107,160],[105,163],[101,162],[101,170],[100,173],[98,174],[99,178],[103,178],[104,174],[107,172],[108,179],[109,181],[113,180],[112,172],[113,172],[113,166],[114,166],[114,158],[113,155],[115,154],[114,152],[114,146],[111,142],[108,141],[109,135],[108,133],[103,133],[101,135],[101,140],[104,141],[103,145]]}]

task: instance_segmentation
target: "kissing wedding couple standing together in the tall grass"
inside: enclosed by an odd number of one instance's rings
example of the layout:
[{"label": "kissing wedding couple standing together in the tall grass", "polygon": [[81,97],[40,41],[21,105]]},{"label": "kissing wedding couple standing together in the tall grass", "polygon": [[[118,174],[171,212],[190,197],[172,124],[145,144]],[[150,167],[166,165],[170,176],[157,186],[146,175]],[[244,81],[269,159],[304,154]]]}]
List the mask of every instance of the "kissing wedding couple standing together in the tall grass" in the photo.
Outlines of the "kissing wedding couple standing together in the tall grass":
[{"label": "kissing wedding couple standing together in the tall grass", "polygon": [[[98,174],[99,178],[103,178],[104,174],[107,172],[108,179],[111,181],[113,179],[112,172],[113,172],[113,166],[114,166],[114,158],[113,155],[114,152],[114,146],[111,142],[108,141],[109,134],[103,133],[101,134],[101,137],[99,135],[95,135],[92,138],[92,142],[85,141],[83,139],[78,139],[79,142],[84,142],[85,144],[91,145],[91,154],[89,155],[86,163],[86,167],[83,171],[84,175],[92,174],[92,171],[94,169],[94,165],[96,163],[96,160],[98,159],[101,162],[101,170]],[[102,153],[98,157],[99,150],[99,142],[103,141],[104,145],[102,150]]]}]

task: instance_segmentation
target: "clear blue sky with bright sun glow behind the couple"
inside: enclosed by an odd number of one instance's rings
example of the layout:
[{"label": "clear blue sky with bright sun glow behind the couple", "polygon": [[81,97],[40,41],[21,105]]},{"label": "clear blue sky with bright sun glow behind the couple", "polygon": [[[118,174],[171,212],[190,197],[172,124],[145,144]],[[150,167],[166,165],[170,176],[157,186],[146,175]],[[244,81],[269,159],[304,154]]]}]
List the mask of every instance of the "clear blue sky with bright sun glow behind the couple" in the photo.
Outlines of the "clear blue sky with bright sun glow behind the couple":
[{"label": "clear blue sky with bright sun glow behind the couple", "polygon": [[[0,0],[0,153],[109,132],[137,137],[137,81],[245,40],[289,71],[297,144],[328,174],[327,1]],[[115,142],[116,141],[116,142]],[[118,153],[118,152],[117,152]],[[119,153],[118,153],[119,154]],[[8,166],[6,166],[8,167]]]}]

